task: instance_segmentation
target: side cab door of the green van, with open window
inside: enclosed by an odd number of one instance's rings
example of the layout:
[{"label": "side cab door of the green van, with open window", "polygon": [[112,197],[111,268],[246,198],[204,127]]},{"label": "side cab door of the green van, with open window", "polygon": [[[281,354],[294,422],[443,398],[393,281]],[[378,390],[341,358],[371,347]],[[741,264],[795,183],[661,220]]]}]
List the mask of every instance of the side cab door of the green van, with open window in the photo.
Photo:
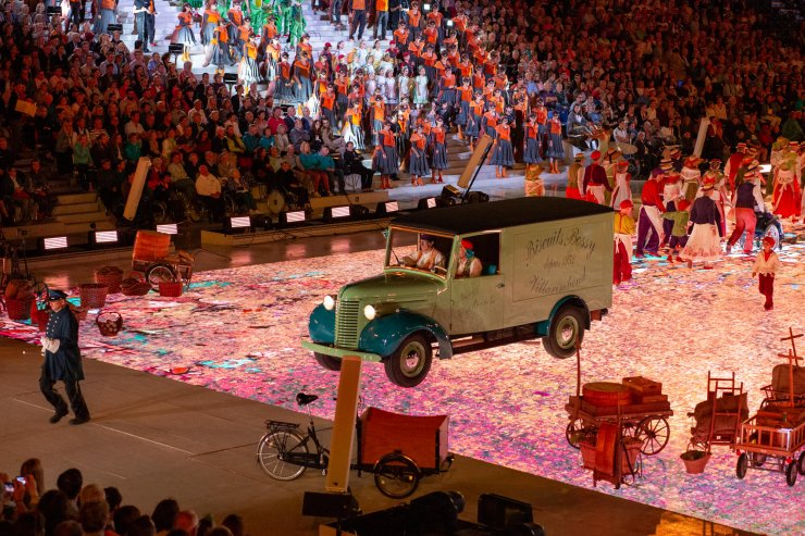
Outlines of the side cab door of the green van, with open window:
[{"label": "side cab door of the green van, with open window", "polygon": [[[481,274],[478,276],[456,273],[462,241],[471,246],[469,251],[481,262]],[[450,335],[469,335],[503,327],[506,287],[499,262],[499,232],[457,240],[450,263]]]}]

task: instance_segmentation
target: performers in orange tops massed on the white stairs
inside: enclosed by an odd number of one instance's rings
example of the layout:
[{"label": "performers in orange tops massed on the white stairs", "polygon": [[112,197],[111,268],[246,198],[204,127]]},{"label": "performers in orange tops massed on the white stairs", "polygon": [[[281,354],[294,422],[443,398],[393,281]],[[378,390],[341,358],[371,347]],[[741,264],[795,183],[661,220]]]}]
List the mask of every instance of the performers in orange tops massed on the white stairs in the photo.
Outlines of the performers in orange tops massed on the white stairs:
[{"label": "performers in orange tops massed on the white stairs", "polygon": [[[239,82],[268,84],[275,104],[305,104],[340,130],[345,141],[369,150],[381,185],[391,187],[400,167],[412,185],[444,180],[446,134],[473,149],[484,134],[494,144],[488,163],[506,177],[515,161],[547,161],[554,173],[565,159],[558,113],[530,99],[525,84],[510,84],[499,52],[479,42],[480,27],[469,11],[450,25],[438,10],[426,15],[411,2],[391,42],[325,43],[314,59],[298,2],[280,11],[272,4],[261,26],[240,0],[225,11],[215,0],[205,8],[200,39],[194,34],[194,7],[178,14],[174,42],[206,47],[206,63],[216,70],[238,64]],[[287,38],[286,38],[287,37]]]}]

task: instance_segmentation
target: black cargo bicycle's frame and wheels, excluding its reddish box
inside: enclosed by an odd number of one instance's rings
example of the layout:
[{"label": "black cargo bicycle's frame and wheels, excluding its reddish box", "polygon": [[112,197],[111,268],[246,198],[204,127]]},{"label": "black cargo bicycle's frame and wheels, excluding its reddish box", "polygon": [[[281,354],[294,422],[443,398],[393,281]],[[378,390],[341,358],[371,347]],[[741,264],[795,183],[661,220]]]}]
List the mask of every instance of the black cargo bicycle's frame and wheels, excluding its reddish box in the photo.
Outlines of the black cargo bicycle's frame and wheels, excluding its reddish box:
[{"label": "black cargo bicycle's frame and wheels, excluding its reddish box", "polygon": [[[307,469],[317,469],[326,474],[330,463],[330,449],[322,445],[319,433],[332,427],[318,428],[313,423],[309,404],[318,400],[317,395],[299,392],[296,403],[307,407],[308,426],[307,431],[300,429],[299,423],[286,421],[265,421],[267,433],[260,438],[257,446],[257,462],[260,468],[272,478],[277,481],[293,481],[305,473]],[[447,471],[453,463],[453,454],[448,454],[435,471],[420,468],[403,450],[395,450],[375,462],[362,460],[361,451],[361,422],[356,425],[358,456],[357,463],[350,469],[358,471],[358,476],[366,471],[374,475],[374,485],[377,489],[392,499],[404,499],[412,495],[419,486],[423,475],[436,474]],[[312,444],[312,445],[311,445]],[[311,448],[315,451],[311,452]],[[438,446],[436,445],[438,452]]]}]

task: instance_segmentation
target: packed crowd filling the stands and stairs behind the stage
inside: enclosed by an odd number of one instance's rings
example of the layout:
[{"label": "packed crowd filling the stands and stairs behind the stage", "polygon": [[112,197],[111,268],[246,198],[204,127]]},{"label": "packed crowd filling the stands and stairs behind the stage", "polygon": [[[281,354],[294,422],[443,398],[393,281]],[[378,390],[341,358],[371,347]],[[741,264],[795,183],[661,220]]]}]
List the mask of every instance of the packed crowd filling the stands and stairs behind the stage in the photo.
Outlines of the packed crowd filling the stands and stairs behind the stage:
[{"label": "packed crowd filling the stands and stairs behind the stage", "polygon": [[[352,22],[362,26],[357,18],[368,18],[381,37],[387,30],[389,45],[359,39],[322,50],[305,36],[288,47],[271,21],[249,29],[246,17],[226,17],[222,24],[244,24],[228,28],[238,36],[230,39],[231,57],[246,55],[248,48],[259,77],[243,70],[251,78],[231,94],[221,73],[195,73],[189,62],[178,67],[166,53],[146,55],[139,41],[129,50],[119,34],[95,35],[88,23],[78,27],[81,15],[49,16],[44,3],[7,2],[0,21],[0,215],[5,224],[49,215],[47,189],[37,192],[40,185],[7,171],[25,172],[32,159],[46,163],[34,180],[61,178],[99,190],[120,216],[127,188],[115,186],[109,173],[101,180],[106,160],[112,170],[124,162],[128,184],[137,161],[148,157],[152,184],[165,186],[161,201],[183,191],[182,203],[190,207],[187,180],[198,178],[191,154],[232,153],[236,166],[209,172],[222,184],[222,196],[234,198],[224,208],[246,212],[255,205],[225,186],[236,180],[235,169],[242,180],[233,191],[256,182],[282,188],[276,175],[286,157],[309,195],[329,195],[343,186],[347,141],[359,151],[395,149],[394,180],[408,166],[410,135],[422,126],[430,169],[441,170],[439,121],[459,138],[478,126],[496,138],[498,126],[508,124],[505,135],[521,162],[529,125],[538,141],[530,160],[557,152],[554,138],[548,153],[548,140],[558,135],[548,116],[556,116],[560,136],[578,148],[617,140],[634,148],[628,157],[644,160],[644,170],[659,163],[662,145],[691,153],[702,117],[710,123],[705,160],[726,161],[739,142],[764,160],[779,136],[803,137],[805,32],[791,11],[795,2],[446,0],[429,3],[429,11],[414,1],[410,10],[386,12],[387,5],[369,2]],[[330,15],[337,24],[339,14]],[[249,32],[258,39],[240,37]],[[381,134],[384,124],[391,127]],[[322,146],[334,151],[334,167],[326,154],[323,164],[305,159],[312,166],[297,165],[294,155],[305,144],[311,154]],[[370,188],[366,172],[348,160]],[[187,177],[171,173],[169,163],[185,164]],[[143,196],[143,202],[152,200]],[[220,219],[214,209],[210,217]]]}]

